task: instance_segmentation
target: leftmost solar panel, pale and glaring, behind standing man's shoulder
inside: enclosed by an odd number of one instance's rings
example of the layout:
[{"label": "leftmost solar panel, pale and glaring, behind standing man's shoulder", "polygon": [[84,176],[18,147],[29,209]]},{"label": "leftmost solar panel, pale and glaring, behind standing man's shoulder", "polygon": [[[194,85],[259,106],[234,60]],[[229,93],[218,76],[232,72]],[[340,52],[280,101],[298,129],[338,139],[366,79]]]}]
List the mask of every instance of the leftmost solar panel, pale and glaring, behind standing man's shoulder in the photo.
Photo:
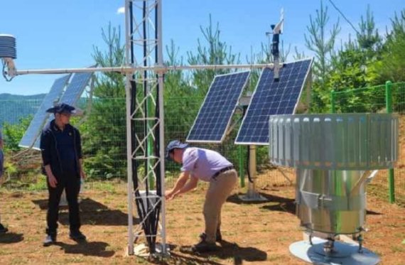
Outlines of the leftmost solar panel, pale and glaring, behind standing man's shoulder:
[{"label": "leftmost solar panel, pale and glaring, behind standing man's shoulder", "polygon": [[66,83],[68,82],[70,75],[65,75],[63,77],[58,78],[53,82],[52,87],[48,94],[46,94],[45,98],[41,102],[41,105],[38,109],[38,112],[34,115],[26,133],[23,135],[18,146],[31,148],[35,143],[37,137],[41,133],[41,129],[43,124],[45,123],[45,119],[48,118],[49,114],[46,113],[46,109],[53,107],[53,102],[57,101],[62,94],[63,89],[65,88]]}]

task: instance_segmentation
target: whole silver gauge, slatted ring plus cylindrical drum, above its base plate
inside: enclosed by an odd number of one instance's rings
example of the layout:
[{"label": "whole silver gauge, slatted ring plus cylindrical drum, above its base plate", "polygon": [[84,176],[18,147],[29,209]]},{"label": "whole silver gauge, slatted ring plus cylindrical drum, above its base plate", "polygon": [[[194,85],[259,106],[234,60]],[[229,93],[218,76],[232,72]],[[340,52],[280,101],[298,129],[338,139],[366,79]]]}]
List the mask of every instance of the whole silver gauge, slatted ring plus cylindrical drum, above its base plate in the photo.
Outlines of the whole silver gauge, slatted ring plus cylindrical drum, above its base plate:
[{"label": "whole silver gauge, slatted ring plus cylindrical drum, above its base plate", "polygon": [[392,168],[398,117],[304,114],[270,117],[271,163],[296,171],[296,214],[310,232],[355,234],[365,224],[365,171]]}]

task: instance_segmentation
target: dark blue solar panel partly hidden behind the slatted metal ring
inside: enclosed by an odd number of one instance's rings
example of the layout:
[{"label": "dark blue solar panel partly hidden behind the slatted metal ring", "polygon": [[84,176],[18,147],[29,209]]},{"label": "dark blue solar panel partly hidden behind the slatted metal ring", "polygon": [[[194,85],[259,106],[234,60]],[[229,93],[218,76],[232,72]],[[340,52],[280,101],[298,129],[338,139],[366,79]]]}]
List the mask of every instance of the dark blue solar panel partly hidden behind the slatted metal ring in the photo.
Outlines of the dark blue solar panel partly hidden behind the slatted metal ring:
[{"label": "dark blue solar panel partly hidden behind the slatted metal ring", "polygon": [[269,116],[295,112],[311,64],[311,59],[284,63],[279,82],[274,82],[273,70],[264,68],[235,144],[269,144]]}]

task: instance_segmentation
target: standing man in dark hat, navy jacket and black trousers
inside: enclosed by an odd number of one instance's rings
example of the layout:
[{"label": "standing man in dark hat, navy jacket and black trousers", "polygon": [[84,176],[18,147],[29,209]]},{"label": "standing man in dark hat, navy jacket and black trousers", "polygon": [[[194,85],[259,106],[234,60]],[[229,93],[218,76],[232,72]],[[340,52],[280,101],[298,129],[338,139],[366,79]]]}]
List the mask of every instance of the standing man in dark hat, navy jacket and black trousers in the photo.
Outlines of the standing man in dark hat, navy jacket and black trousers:
[{"label": "standing man in dark hat, navy jacket and black trousers", "polygon": [[46,111],[53,113],[55,119],[43,129],[40,145],[49,192],[44,246],[56,242],[59,202],[63,190],[69,205],[70,238],[75,241],[86,239],[80,232],[77,202],[80,177],[85,178],[82,168],[82,144],[79,130],[70,125],[70,116],[75,114],[75,111],[75,107],[65,103],[57,104]]}]

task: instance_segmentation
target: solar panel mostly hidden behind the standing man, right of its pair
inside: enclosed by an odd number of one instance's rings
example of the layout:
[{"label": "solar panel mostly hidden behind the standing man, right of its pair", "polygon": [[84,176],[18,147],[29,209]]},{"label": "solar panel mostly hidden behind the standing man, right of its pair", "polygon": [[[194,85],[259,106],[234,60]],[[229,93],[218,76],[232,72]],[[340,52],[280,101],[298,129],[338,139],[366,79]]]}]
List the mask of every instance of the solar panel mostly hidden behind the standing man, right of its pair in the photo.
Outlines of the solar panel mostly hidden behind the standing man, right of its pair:
[{"label": "solar panel mostly hidden behind the standing man, right of its pair", "polygon": [[[80,99],[80,96],[83,94],[83,91],[89,84],[92,75],[93,75],[92,72],[75,73],[75,75],[73,75],[73,77],[72,77],[72,80],[70,80],[68,87],[66,87],[65,93],[63,93],[62,97],[60,97],[59,102],[70,104],[71,106],[75,106],[77,103],[77,100]],[[52,120],[53,120],[53,115],[50,115],[47,123],[49,123]],[[39,150],[40,141],[41,141],[41,137],[38,137],[35,144],[33,145],[33,148]]]}]

